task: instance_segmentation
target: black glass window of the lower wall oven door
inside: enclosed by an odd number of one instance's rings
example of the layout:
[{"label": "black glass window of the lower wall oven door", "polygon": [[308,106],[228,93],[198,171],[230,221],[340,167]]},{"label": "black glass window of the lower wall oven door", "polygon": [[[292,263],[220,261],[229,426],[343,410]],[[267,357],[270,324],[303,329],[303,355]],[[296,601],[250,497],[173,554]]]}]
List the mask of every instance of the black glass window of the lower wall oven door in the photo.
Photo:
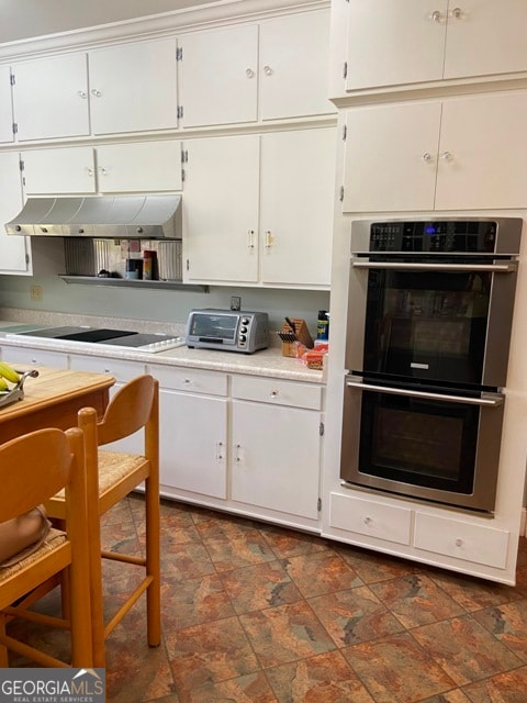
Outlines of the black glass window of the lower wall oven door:
[{"label": "black glass window of the lower wall oven door", "polygon": [[473,488],[479,408],[363,392],[361,473],[459,493]]}]

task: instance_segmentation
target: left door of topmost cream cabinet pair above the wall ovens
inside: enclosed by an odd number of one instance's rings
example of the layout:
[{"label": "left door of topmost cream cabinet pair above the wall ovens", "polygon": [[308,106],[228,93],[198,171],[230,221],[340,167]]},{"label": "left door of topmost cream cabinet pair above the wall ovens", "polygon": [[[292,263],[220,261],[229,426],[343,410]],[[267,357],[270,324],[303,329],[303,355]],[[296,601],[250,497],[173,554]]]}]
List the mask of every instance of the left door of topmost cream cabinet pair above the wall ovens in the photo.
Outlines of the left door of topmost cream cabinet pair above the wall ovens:
[{"label": "left door of topmost cream cabinet pair above the wall ovens", "polygon": [[441,79],[446,15],[447,0],[349,0],[346,89]]}]

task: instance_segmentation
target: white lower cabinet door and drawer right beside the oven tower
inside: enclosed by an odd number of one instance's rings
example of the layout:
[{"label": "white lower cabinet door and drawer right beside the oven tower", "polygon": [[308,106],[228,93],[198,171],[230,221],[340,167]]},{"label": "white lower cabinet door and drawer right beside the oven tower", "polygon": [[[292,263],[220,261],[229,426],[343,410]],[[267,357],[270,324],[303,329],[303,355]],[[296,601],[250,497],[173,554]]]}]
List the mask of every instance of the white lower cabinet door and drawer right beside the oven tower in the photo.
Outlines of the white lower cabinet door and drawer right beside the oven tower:
[{"label": "white lower cabinet door and drawer right beside the oven tower", "polygon": [[322,387],[235,376],[232,392],[233,501],[317,520]]}]

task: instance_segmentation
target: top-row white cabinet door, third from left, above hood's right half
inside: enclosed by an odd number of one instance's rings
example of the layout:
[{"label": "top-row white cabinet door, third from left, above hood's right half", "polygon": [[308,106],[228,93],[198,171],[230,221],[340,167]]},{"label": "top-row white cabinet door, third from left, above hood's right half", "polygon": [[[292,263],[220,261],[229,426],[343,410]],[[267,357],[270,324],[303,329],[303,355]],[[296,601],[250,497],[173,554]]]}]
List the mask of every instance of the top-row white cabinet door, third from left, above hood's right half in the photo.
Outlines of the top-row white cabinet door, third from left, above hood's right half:
[{"label": "top-row white cabinet door, third from left, above hood's right half", "polygon": [[176,38],[89,55],[93,134],[177,127]]}]

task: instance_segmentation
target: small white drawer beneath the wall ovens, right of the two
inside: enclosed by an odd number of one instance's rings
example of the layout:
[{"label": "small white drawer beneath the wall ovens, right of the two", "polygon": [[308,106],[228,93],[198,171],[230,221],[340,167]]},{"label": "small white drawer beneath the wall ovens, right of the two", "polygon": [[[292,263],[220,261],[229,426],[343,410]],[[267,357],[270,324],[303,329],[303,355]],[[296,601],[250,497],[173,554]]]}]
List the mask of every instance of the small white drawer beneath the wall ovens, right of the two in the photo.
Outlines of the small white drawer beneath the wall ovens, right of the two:
[{"label": "small white drawer beneath the wall ovens, right of the two", "polygon": [[508,532],[416,513],[414,544],[426,551],[505,569]]}]

